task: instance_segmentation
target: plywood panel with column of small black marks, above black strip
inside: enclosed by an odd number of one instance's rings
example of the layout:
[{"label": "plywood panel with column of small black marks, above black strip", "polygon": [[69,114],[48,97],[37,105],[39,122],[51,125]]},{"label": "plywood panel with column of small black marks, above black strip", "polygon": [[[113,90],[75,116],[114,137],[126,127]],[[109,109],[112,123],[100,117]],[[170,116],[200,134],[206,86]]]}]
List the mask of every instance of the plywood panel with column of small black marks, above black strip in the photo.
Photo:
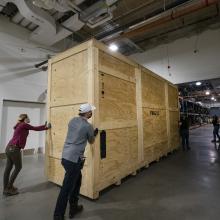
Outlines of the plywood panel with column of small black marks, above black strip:
[{"label": "plywood panel with column of small black marks, above black strip", "polygon": [[101,73],[99,92],[100,123],[137,120],[134,83]]}]

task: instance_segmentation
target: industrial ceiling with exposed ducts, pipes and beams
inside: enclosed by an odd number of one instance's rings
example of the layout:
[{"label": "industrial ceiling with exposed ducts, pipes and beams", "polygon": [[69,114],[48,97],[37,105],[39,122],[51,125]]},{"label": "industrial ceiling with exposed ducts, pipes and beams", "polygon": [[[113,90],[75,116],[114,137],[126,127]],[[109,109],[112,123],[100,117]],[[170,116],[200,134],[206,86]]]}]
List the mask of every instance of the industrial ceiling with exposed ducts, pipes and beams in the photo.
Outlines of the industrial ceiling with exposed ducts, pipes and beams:
[{"label": "industrial ceiling with exposed ducts, pipes and beams", "polygon": [[[0,0],[0,20],[26,29],[28,42],[53,47],[54,53],[96,38],[107,45],[117,43],[120,53],[132,55],[219,29],[219,8],[219,0]],[[217,82],[203,81],[206,88],[194,82],[179,88],[206,102],[201,91],[218,95]]]}]

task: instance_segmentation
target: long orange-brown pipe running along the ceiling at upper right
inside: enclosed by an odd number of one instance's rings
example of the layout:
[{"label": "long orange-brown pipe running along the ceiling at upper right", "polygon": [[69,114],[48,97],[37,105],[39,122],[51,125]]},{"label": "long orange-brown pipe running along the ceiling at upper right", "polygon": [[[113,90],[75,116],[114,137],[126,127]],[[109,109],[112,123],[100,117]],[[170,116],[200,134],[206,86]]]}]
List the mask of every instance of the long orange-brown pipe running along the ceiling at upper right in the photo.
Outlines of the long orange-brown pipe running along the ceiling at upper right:
[{"label": "long orange-brown pipe running along the ceiling at upper right", "polygon": [[[214,4],[218,4],[219,0],[199,0],[196,3],[191,2],[187,5],[180,6],[178,8],[171,9],[169,11],[166,11],[164,13],[161,13],[159,16],[147,19],[146,22],[141,22],[139,24],[136,24],[133,26],[133,28],[127,32],[121,33],[119,36],[116,36],[114,38],[109,38],[105,40],[106,43],[115,42],[117,40],[120,40],[122,38],[131,38],[135,37],[141,34],[144,34],[146,31],[158,27],[162,24],[165,24],[169,21],[175,20],[177,18],[183,17],[185,15],[194,13],[196,11],[199,11],[203,8],[209,7]],[[168,14],[167,14],[168,13]],[[140,26],[141,27],[140,27]]]}]

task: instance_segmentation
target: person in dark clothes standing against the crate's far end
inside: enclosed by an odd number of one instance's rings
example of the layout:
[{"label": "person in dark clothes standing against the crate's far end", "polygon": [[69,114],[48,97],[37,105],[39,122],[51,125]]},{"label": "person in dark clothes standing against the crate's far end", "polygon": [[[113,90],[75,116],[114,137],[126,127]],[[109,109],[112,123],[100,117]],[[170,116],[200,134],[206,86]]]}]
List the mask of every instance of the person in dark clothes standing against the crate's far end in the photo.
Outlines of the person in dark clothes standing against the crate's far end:
[{"label": "person in dark clothes standing against the crate's far end", "polygon": [[189,147],[189,119],[187,116],[182,116],[180,119],[180,135],[182,138],[183,151],[190,150]]}]

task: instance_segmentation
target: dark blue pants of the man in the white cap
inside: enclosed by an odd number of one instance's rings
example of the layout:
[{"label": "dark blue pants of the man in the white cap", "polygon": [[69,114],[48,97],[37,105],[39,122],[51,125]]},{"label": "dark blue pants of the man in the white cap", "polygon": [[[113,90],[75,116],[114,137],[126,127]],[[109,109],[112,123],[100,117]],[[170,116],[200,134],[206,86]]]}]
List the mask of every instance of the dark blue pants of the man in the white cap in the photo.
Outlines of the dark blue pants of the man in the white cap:
[{"label": "dark blue pants of the man in the white cap", "polygon": [[79,200],[79,192],[81,187],[81,168],[82,164],[79,160],[78,163],[62,159],[62,165],[66,171],[63,180],[63,185],[57,199],[54,216],[64,216],[66,211],[67,202],[70,205],[76,204]]}]

